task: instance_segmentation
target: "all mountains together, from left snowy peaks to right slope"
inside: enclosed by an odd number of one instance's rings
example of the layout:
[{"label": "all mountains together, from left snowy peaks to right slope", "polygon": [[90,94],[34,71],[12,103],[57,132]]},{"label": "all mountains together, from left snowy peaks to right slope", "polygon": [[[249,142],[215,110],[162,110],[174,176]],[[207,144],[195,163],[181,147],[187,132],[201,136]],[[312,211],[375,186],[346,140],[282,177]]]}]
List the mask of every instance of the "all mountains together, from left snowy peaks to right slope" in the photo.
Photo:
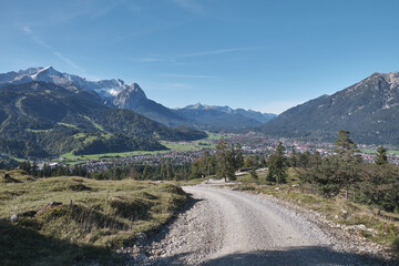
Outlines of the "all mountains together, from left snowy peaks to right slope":
[{"label": "all mountains together, from left snowy peaks to right slope", "polygon": [[348,130],[358,143],[399,145],[398,72],[374,73],[278,116],[201,103],[168,109],[137,83],[88,81],[51,66],[0,74],[0,151],[19,156],[161,150],[160,140],[198,140],[201,130],[321,141]]}]

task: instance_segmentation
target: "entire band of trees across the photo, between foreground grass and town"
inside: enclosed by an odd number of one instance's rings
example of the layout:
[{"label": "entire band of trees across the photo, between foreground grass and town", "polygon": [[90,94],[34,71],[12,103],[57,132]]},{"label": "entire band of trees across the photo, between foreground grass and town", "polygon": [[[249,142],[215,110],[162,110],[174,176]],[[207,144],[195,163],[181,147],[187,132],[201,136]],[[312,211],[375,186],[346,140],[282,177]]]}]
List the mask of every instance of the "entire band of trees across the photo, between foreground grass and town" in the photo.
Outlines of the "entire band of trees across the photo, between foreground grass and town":
[{"label": "entire band of trees across the photo, between foreground grass and town", "polygon": [[304,190],[325,197],[344,196],[348,201],[367,204],[388,212],[399,212],[399,166],[390,164],[387,149],[380,146],[375,163],[367,163],[360,156],[357,144],[348,131],[339,131],[335,143],[335,153],[321,157],[318,152],[298,153],[295,149],[287,155],[286,149],[278,143],[267,162],[259,156],[245,156],[239,144],[227,144],[221,140],[215,153],[205,151],[203,156],[184,165],[173,165],[171,161],[158,165],[122,165],[101,172],[89,172],[83,166],[44,164],[39,170],[33,162],[22,162],[20,168],[39,176],[76,175],[96,180],[192,180],[216,175],[225,181],[234,181],[239,168],[250,170],[257,178],[256,168],[267,166],[266,180],[272,184],[284,184],[287,170],[291,167],[298,174]]}]

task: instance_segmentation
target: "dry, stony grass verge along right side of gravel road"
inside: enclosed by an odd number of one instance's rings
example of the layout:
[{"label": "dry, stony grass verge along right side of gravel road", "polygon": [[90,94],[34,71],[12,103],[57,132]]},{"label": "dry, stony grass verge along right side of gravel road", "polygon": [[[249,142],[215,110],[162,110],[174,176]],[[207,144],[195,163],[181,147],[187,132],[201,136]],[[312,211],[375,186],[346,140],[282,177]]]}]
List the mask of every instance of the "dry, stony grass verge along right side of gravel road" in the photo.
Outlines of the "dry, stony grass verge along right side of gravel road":
[{"label": "dry, stony grass verge along right side of gravel road", "polygon": [[289,168],[287,183],[275,185],[266,180],[266,172],[254,180],[249,174],[237,176],[237,190],[273,195],[307,209],[313,209],[328,221],[340,224],[348,232],[390,247],[399,255],[399,214],[387,213],[341,197],[325,198],[300,185],[295,170]]}]

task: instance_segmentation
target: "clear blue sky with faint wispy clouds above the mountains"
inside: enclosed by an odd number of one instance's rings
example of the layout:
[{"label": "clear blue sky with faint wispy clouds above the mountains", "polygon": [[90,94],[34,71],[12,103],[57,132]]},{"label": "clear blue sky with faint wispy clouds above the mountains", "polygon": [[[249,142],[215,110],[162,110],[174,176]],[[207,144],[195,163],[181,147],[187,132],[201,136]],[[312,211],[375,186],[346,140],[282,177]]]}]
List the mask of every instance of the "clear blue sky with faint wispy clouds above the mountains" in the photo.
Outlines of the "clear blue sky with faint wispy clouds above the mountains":
[{"label": "clear blue sky with faint wispy clouds above the mountains", "polygon": [[137,82],[168,108],[280,113],[399,70],[399,1],[0,0],[0,72]]}]

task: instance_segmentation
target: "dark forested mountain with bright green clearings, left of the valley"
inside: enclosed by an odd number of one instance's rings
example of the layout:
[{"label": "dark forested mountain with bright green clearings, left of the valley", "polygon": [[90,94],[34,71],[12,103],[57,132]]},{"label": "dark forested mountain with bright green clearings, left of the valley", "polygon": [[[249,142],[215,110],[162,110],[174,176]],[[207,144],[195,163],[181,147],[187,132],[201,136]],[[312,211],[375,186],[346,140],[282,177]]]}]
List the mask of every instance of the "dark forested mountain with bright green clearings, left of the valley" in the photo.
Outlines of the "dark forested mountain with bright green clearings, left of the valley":
[{"label": "dark forested mountain with bright green clearings, left of the valley", "polygon": [[32,81],[0,88],[0,151],[16,156],[163,150],[156,137],[197,140],[206,134],[170,129],[130,110],[109,108],[90,92]]}]

